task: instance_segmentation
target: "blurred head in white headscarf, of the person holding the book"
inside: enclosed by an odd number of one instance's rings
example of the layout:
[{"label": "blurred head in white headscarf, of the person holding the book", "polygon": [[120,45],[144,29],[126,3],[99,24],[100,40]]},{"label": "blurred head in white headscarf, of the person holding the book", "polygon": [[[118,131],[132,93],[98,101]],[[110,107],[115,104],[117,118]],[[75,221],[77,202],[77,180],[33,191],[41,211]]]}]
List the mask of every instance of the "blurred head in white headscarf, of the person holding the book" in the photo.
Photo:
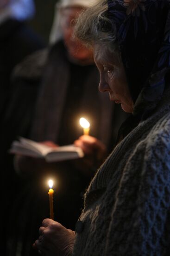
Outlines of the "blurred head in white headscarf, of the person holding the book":
[{"label": "blurred head in white headscarf, of the person holding the book", "polygon": [[78,61],[93,60],[92,50],[72,38],[75,20],[82,10],[99,0],[60,0],[56,5],[56,14],[50,34],[50,43],[63,39],[71,58]]}]

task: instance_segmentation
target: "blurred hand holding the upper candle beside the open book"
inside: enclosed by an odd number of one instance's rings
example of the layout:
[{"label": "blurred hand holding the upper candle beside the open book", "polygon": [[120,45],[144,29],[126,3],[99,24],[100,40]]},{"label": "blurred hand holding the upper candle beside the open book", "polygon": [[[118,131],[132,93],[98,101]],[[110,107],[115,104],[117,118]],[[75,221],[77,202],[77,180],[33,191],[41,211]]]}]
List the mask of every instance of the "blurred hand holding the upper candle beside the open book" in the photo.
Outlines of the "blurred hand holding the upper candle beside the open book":
[{"label": "blurred hand holding the upper candle beside the open book", "polygon": [[74,144],[75,146],[82,148],[85,154],[84,160],[89,168],[93,166],[98,168],[105,160],[107,148],[95,137],[82,135],[74,142]]}]

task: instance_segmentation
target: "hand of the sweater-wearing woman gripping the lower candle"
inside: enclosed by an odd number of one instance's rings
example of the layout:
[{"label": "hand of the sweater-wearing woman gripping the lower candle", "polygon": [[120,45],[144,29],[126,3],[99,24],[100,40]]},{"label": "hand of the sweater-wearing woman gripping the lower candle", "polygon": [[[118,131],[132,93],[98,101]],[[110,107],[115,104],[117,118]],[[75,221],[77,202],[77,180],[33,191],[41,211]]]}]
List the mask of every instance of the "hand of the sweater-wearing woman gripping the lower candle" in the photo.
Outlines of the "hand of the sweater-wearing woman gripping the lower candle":
[{"label": "hand of the sweater-wearing woman gripping the lower candle", "polygon": [[71,256],[75,242],[75,232],[60,223],[44,219],[39,228],[39,238],[33,244],[42,256]]}]

